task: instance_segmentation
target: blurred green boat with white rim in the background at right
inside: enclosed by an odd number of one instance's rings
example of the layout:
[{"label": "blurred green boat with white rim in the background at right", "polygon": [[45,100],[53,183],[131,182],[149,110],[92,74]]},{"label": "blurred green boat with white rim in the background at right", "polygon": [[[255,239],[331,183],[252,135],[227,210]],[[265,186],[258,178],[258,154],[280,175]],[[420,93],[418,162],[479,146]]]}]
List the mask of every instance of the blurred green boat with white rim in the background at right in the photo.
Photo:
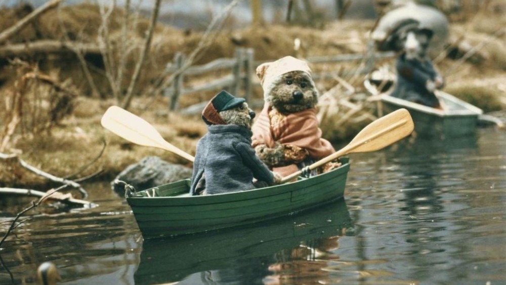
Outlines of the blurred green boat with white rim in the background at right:
[{"label": "blurred green boat with white rim in the background at right", "polygon": [[478,116],[483,111],[448,93],[436,92],[443,110],[421,104],[382,95],[383,111],[393,112],[405,108],[411,114],[414,122],[414,132],[424,138],[455,138],[468,136],[476,132]]}]

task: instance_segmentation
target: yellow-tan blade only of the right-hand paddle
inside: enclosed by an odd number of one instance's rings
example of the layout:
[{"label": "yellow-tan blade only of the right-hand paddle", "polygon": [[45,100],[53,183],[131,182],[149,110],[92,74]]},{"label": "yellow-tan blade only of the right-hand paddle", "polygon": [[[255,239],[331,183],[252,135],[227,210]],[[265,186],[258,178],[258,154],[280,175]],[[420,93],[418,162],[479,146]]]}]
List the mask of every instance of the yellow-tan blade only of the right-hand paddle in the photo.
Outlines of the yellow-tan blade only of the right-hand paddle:
[{"label": "yellow-tan blade only of the right-hand paddle", "polygon": [[413,119],[408,110],[396,110],[362,129],[349,143],[349,146],[355,147],[348,153],[382,149],[410,135],[413,128]]}]

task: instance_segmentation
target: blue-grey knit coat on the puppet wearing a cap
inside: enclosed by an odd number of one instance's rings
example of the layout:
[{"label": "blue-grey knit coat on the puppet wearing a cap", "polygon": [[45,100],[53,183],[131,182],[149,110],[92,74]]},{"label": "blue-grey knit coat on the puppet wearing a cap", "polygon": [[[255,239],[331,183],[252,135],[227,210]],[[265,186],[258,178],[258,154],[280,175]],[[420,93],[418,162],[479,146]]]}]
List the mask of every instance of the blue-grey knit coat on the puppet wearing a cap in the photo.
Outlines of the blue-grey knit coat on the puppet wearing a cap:
[{"label": "blue-grey knit coat on the puppet wearing a cap", "polygon": [[251,135],[242,126],[209,126],[197,143],[190,194],[203,175],[207,194],[254,189],[253,178],[272,185],[274,176],[251,147]]}]

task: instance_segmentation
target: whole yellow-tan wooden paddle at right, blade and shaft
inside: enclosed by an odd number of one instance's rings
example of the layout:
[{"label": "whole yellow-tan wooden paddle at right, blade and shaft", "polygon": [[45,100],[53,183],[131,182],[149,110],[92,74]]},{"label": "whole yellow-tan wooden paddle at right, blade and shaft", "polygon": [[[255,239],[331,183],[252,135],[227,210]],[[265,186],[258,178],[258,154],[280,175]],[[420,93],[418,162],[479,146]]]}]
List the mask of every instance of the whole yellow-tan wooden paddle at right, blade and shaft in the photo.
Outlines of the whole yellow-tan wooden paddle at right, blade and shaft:
[{"label": "whole yellow-tan wooden paddle at right, blade and shaft", "polygon": [[[382,149],[411,134],[413,128],[413,120],[408,110],[396,110],[395,112],[374,120],[371,124],[362,129],[347,146],[316,161],[309,166],[309,170],[313,170],[345,154]],[[302,171],[292,173],[284,177],[281,183],[288,182],[301,174]]]}]

